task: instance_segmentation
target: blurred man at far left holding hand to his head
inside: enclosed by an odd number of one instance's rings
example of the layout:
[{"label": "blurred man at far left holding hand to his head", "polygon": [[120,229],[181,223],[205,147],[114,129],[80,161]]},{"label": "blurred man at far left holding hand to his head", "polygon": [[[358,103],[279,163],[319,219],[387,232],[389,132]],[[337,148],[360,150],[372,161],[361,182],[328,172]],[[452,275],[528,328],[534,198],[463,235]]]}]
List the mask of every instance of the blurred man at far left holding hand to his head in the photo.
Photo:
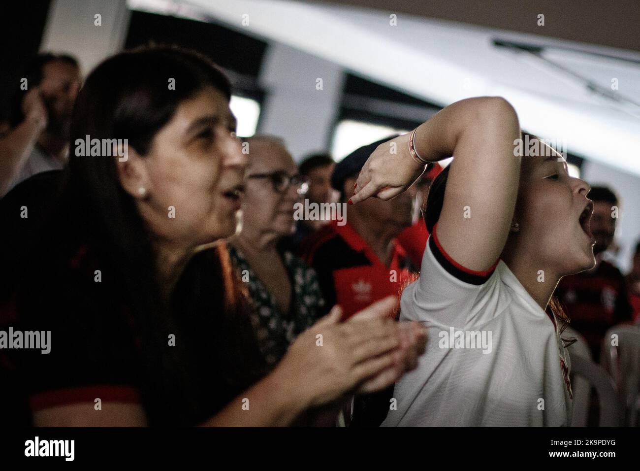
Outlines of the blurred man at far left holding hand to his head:
[{"label": "blurred man at far left holding hand to his head", "polygon": [[38,54],[28,63],[10,118],[0,124],[0,197],[36,173],[64,167],[79,88],[71,56]]}]

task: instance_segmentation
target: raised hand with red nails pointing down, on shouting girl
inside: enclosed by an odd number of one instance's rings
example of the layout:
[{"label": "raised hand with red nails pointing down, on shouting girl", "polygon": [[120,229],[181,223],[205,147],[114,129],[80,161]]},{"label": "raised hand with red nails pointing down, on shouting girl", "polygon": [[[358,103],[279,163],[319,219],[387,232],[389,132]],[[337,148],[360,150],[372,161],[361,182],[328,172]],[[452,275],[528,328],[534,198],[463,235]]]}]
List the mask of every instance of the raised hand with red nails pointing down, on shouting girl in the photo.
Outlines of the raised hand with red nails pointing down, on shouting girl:
[{"label": "raised hand with red nails pointing down, on shouting girl", "polygon": [[391,199],[409,188],[424,172],[409,153],[409,134],[397,136],[378,145],[365,162],[351,204],[364,201],[370,196]]}]

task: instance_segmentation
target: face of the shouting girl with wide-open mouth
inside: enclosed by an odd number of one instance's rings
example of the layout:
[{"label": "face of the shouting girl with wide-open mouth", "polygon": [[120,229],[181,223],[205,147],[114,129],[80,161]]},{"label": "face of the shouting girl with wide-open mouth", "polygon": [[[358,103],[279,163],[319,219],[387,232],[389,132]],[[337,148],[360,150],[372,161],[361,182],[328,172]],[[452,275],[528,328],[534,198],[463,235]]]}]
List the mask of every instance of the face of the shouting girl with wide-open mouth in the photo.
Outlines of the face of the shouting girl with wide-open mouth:
[{"label": "face of the shouting girl with wide-open mouth", "polygon": [[589,233],[589,185],[570,177],[564,160],[523,157],[515,221],[518,248],[536,254],[538,270],[559,276],[590,269],[595,264]]}]

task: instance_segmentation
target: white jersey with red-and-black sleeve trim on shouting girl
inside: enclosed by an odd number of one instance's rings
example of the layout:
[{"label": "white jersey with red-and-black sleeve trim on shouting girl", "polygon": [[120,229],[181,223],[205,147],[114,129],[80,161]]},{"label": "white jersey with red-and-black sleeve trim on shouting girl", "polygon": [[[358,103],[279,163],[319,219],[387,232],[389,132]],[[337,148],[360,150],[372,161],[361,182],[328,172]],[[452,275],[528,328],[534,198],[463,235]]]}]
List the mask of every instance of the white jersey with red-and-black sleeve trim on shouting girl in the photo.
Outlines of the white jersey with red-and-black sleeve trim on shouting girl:
[{"label": "white jersey with red-and-black sleeve trim on shouting girl", "polygon": [[427,349],[396,383],[382,426],[569,426],[570,363],[556,320],[504,261],[464,269],[435,231],[400,308],[401,321],[428,328]]}]

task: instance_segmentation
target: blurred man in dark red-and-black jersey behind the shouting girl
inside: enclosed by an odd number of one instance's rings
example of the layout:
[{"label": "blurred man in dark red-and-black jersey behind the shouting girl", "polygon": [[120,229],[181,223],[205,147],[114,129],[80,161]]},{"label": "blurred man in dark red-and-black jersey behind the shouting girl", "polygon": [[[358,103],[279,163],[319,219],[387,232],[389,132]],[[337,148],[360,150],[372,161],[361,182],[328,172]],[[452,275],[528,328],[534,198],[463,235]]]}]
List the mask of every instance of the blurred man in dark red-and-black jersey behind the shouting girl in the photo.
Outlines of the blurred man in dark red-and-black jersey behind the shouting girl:
[{"label": "blurred man in dark red-and-black jersey behind the shouting girl", "polygon": [[600,358],[600,347],[609,327],[631,320],[625,277],[612,263],[604,260],[605,251],[612,244],[618,217],[618,198],[604,186],[594,186],[588,198],[593,201],[591,233],[596,244],[593,253],[596,266],[577,275],[560,280],[556,293],[571,326],[589,343],[593,359]]}]

